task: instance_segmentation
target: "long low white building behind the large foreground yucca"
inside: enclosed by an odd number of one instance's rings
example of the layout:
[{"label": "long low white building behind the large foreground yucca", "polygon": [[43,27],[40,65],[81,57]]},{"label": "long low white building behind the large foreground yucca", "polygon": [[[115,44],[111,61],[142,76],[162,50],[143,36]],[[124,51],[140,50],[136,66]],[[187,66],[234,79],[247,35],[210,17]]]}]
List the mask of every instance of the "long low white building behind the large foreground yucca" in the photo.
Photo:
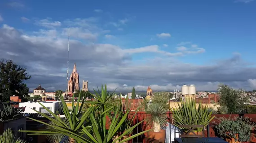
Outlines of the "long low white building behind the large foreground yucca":
[{"label": "long low white building behind the large foreground yucca", "polygon": [[[61,106],[62,102],[59,101],[46,101],[46,102],[40,102],[42,105],[44,105],[46,108],[50,109],[53,113],[56,114],[56,111],[58,113],[61,112]],[[33,109],[41,112],[41,113],[45,113],[48,114],[49,112],[47,110],[45,110],[43,108],[43,106],[41,106],[38,102],[20,102],[19,103],[20,107],[25,107],[26,109],[24,111],[24,113],[36,113]]]}]

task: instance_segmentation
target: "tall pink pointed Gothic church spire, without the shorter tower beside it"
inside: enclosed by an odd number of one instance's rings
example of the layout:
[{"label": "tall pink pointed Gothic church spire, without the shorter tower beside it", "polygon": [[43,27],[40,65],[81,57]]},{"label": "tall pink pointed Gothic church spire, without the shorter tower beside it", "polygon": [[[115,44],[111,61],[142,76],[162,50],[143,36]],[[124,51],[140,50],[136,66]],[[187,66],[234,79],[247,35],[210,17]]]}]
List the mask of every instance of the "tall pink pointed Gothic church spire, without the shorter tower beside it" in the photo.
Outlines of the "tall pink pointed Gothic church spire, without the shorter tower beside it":
[{"label": "tall pink pointed Gothic church spire, without the shorter tower beside it", "polygon": [[70,75],[70,79],[68,81],[68,93],[74,93],[76,90],[80,90],[79,88],[79,74],[76,70],[76,64],[74,64],[73,71]]}]

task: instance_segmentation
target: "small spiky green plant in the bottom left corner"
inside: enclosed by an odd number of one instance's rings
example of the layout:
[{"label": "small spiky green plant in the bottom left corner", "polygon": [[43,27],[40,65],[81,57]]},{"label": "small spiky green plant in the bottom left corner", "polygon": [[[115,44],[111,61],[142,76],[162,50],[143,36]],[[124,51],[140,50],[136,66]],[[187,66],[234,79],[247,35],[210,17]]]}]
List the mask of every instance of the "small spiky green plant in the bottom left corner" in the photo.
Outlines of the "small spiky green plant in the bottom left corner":
[{"label": "small spiky green plant in the bottom left corner", "polygon": [[0,143],[26,143],[26,141],[16,138],[15,135],[13,135],[11,129],[4,130],[4,133],[0,135]]}]

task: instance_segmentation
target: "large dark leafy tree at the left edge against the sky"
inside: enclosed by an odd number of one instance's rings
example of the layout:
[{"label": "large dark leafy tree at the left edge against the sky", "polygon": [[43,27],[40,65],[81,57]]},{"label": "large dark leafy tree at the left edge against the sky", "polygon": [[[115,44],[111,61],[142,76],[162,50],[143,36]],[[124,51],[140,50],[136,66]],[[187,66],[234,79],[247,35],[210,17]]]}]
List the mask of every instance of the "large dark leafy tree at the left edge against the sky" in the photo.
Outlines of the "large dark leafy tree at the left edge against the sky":
[{"label": "large dark leafy tree at the left edge against the sky", "polygon": [[27,97],[29,88],[23,82],[29,80],[31,76],[23,68],[12,60],[0,61],[0,100],[9,101],[10,96],[19,96],[21,99]]}]

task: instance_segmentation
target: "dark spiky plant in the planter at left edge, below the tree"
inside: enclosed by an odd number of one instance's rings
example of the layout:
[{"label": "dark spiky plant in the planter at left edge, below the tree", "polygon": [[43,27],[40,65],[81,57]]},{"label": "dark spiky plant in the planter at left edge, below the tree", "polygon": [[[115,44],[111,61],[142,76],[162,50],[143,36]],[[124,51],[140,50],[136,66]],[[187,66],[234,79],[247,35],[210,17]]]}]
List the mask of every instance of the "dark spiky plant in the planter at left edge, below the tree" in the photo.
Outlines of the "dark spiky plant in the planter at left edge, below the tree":
[{"label": "dark spiky plant in the planter at left edge, below the tree", "polygon": [[0,122],[15,120],[22,117],[22,107],[15,108],[8,104],[3,104],[3,109],[0,109]]}]

